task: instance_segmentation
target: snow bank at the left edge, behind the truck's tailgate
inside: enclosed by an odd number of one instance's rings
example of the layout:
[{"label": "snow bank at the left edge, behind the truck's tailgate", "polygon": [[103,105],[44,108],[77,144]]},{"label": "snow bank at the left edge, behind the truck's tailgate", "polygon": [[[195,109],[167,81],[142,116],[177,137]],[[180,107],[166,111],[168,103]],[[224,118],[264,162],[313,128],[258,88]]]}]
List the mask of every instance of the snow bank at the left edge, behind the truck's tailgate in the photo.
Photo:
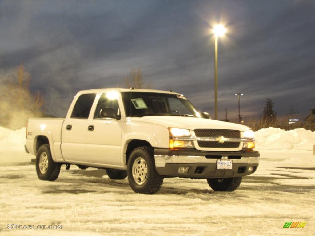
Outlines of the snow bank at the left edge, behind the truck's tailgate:
[{"label": "snow bank at the left edge, behind the truck's tailgate", "polygon": [[25,130],[10,130],[0,126],[0,149],[11,149],[16,151],[23,151],[25,144]]}]

